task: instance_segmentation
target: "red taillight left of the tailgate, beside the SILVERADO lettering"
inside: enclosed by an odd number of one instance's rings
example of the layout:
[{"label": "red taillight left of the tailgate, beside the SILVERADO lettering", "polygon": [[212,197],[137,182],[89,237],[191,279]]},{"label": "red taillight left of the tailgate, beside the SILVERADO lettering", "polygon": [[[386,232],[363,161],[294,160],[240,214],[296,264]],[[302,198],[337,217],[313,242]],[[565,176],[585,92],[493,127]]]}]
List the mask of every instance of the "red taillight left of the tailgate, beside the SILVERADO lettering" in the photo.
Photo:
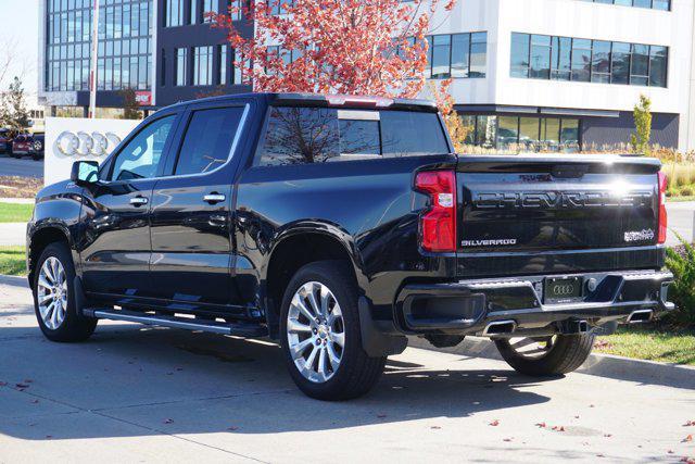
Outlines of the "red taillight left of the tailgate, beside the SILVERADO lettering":
[{"label": "red taillight left of the tailgate, beside the SILVERADO lettering", "polygon": [[456,251],[456,173],[418,173],[415,189],[430,196],[430,209],[420,216],[420,246],[435,253]]}]

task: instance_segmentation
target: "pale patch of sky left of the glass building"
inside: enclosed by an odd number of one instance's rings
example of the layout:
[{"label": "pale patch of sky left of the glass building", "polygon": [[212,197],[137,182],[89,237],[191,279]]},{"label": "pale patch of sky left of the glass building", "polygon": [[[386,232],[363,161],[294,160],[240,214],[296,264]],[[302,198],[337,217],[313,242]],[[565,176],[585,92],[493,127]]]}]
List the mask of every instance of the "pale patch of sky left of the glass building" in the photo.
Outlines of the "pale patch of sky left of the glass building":
[{"label": "pale patch of sky left of the glass building", "polygon": [[[23,75],[27,102],[36,104],[38,87],[38,47],[39,20],[38,9],[41,0],[0,0],[0,47],[14,45],[14,60],[5,81],[0,83],[2,90],[8,87],[15,75]],[[0,57],[8,50],[0,50]]]}]

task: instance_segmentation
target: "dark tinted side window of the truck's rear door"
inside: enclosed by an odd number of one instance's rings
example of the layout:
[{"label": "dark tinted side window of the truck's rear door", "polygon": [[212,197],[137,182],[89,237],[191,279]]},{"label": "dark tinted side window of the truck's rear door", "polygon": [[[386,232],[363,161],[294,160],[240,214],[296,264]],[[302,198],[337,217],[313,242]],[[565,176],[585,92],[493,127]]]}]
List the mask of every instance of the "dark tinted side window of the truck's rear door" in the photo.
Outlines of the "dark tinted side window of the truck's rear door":
[{"label": "dark tinted side window of the truck's rear door", "polygon": [[243,111],[243,106],[231,106],[193,112],[174,174],[208,173],[225,164]]}]

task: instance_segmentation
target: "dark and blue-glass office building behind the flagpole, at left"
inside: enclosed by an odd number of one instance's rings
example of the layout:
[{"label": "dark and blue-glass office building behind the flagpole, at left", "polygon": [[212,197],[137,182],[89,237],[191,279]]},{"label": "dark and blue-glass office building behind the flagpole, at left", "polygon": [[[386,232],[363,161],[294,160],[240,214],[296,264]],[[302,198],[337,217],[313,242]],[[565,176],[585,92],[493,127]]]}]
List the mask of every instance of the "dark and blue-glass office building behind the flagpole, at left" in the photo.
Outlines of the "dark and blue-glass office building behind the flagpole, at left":
[{"label": "dark and blue-glass office building behind the flagpole, at left", "polygon": [[[144,110],[220,92],[248,91],[225,32],[208,12],[229,0],[99,0],[98,114],[117,116],[124,90]],[[93,0],[40,0],[39,100],[52,114],[89,105]],[[252,26],[240,22],[249,32]]]}]

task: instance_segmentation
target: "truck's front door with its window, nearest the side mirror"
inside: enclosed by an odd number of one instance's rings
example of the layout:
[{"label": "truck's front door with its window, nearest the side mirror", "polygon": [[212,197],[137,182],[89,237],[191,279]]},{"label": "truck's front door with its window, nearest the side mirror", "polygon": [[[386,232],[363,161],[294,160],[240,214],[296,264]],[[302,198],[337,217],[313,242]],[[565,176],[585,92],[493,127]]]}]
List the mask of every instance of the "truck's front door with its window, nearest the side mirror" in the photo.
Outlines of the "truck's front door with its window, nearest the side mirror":
[{"label": "truck's front door with its window, nearest the side mirror", "polygon": [[88,292],[150,296],[152,188],[177,118],[163,114],[139,128],[85,189],[80,256]]}]

